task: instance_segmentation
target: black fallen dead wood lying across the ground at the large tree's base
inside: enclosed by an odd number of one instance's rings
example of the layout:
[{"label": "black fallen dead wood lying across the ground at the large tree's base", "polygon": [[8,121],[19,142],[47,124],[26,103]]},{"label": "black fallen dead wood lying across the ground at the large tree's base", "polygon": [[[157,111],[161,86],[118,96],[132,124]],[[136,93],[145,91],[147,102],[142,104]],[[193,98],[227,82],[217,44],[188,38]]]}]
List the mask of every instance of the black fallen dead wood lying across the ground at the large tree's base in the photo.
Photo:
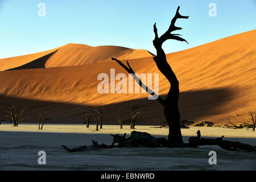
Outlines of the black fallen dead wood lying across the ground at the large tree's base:
[{"label": "black fallen dead wood lying across the ground at the large tree's base", "polygon": [[[205,145],[216,145],[225,150],[229,151],[256,151],[256,146],[251,146],[250,144],[244,144],[240,142],[231,142],[228,140],[222,140],[224,136],[220,138],[201,138],[200,130],[197,131],[196,137],[190,137],[189,143],[177,143],[177,142],[168,142],[166,138],[155,138],[152,137],[149,133],[132,131],[131,136],[126,138],[126,133],[123,136],[112,135],[113,142],[111,145],[107,144],[98,144],[97,141],[92,140],[91,146],[81,146],[77,148],[69,149],[66,146],[62,146],[68,152],[78,152],[84,150],[97,150],[99,148],[113,148],[113,147],[170,147],[170,148],[196,148],[198,146]],[[115,143],[118,143],[115,145]]]}]

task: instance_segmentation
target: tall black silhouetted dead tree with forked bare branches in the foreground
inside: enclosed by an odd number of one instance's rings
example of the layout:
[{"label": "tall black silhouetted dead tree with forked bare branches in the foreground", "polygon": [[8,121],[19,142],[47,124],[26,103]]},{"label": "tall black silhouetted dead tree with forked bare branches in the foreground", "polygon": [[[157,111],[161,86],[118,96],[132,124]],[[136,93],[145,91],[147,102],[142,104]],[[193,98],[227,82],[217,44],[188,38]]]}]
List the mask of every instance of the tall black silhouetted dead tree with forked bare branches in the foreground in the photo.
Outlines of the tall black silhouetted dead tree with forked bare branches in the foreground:
[{"label": "tall black silhouetted dead tree with forked bare branches in the foreground", "polygon": [[121,61],[112,58],[112,60],[117,61],[119,65],[121,65],[123,68],[126,69],[128,73],[130,73],[134,78],[135,81],[138,82],[138,84],[145,89],[148,93],[150,93],[152,96],[156,98],[160,102],[160,104],[163,106],[164,109],[164,117],[166,117],[166,121],[169,126],[169,135],[168,140],[169,142],[175,142],[175,143],[183,143],[182,135],[180,131],[180,113],[178,108],[178,101],[179,101],[179,81],[177,80],[177,77],[175,73],[172,71],[172,68],[168,64],[166,60],[166,54],[164,53],[162,49],[162,44],[166,42],[168,39],[174,39],[179,40],[181,42],[187,42],[185,39],[180,38],[179,34],[171,34],[171,32],[175,30],[181,30],[182,28],[176,27],[175,22],[178,18],[185,18],[187,19],[189,16],[181,16],[179,14],[180,7],[177,8],[176,14],[174,18],[171,20],[171,25],[168,28],[168,30],[162,35],[158,36],[158,30],[156,28],[156,23],[154,24],[154,33],[155,33],[155,39],[153,40],[153,45],[156,49],[156,56],[153,57],[159,71],[163,73],[163,75],[167,78],[167,80],[170,82],[170,90],[167,94],[167,97],[165,100],[163,98],[156,96],[156,93],[154,93],[151,89],[149,89],[147,86],[145,86],[142,81],[135,75],[133,69],[130,67],[128,61],[127,66],[123,64]]}]

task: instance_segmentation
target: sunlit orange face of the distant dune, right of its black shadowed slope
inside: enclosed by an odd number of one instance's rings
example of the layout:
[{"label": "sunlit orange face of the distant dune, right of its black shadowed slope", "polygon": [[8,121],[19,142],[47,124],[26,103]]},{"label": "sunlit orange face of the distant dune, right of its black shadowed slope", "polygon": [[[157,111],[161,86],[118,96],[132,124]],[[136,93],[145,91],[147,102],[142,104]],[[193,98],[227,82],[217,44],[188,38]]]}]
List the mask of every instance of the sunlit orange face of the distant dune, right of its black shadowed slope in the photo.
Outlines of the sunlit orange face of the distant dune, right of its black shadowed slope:
[{"label": "sunlit orange face of the distant dune, right of its black shadowed slope", "polygon": [[104,63],[110,61],[111,57],[117,57],[117,59],[123,60],[148,56],[151,56],[151,54],[146,50],[130,49],[126,47],[90,47],[82,44],[67,44],[61,47],[47,60],[46,68]]}]

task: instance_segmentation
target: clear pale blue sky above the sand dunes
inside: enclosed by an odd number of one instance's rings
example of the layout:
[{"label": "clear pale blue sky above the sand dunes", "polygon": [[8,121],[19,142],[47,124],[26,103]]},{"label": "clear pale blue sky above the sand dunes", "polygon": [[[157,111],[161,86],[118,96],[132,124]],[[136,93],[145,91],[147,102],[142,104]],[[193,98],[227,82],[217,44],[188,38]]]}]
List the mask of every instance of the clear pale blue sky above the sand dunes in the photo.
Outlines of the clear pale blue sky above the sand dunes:
[{"label": "clear pale blue sky above the sand dunes", "polygon": [[[39,3],[46,16],[38,16]],[[217,6],[210,17],[209,3]],[[64,46],[123,46],[155,53],[153,24],[159,34],[170,26],[177,6],[181,15],[176,31],[184,42],[164,43],[166,53],[181,51],[226,36],[256,29],[255,0],[0,0],[0,58],[26,55]]]}]

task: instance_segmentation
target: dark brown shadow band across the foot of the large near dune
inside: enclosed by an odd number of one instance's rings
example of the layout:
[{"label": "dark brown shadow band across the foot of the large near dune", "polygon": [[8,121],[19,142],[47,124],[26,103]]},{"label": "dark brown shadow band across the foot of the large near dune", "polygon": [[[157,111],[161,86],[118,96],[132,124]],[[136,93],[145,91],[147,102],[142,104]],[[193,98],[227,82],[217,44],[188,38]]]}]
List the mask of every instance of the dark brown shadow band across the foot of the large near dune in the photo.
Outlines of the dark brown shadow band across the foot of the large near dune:
[{"label": "dark brown shadow band across the foot of the large near dune", "polygon": [[[209,115],[223,114],[221,107],[225,106],[234,96],[234,90],[230,88],[196,90],[180,93],[180,115],[181,119],[204,118]],[[166,96],[161,96],[166,97]],[[141,106],[141,125],[159,125],[164,121],[163,107],[156,100],[141,98],[138,100],[123,101],[117,104],[104,105],[105,123],[117,124],[114,119],[115,110],[119,109],[123,119],[129,119],[130,105],[138,104]],[[27,107],[27,117],[30,122],[37,122],[39,115],[43,114],[49,118],[50,123],[81,123],[85,115],[82,112],[86,107],[95,107],[86,104],[70,104],[63,102],[38,101],[25,98],[14,98],[0,96],[0,118],[6,118],[5,107],[16,105]],[[226,111],[226,110],[225,110]]]}]

